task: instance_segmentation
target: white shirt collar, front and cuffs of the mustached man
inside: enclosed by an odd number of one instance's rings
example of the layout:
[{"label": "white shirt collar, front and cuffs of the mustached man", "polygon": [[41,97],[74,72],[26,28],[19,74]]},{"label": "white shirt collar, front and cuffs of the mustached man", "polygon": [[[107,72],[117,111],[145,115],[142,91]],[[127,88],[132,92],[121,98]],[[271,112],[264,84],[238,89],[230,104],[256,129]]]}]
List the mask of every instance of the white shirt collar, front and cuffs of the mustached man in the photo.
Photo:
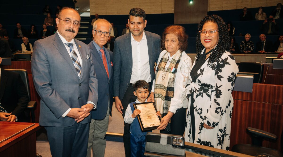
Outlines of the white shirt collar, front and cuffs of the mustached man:
[{"label": "white shirt collar, front and cuffs of the mustached man", "polygon": [[[81,57],[81,55],[80,55],[80,53],[79,53],[78,47],[77,47],[77,45],[76,45],[76,43],[75,43],[75,40],[72,39],[70,42],[67,42],[67,40],[66,40],[63,36],[61,36],[61,34],[60,34],[58,31],[57,31],[57,33],[58,33],[60,39],[62,40],[62,42],[64,43],[65,48],[67,49],[67,52],[68,52],[68,54],[70,55],[71,58],[72,58],[72,56],[71,56],[71,53],[70,53],[70,47],[68,47],[68,45],[66,45],[65,43],[72,43],[72,44],[73,44],[74,50],[75,50],[76,54],[78,55],[78,59],[79,59],[79,61],[80,61],[81,67],[83,67],[83,64],[82,64],[82,57]],[[88,101],[87,103],[88,103],[88,104],[93,104],[93,106],[94,106],[93,109],[96,108],[96,105],[95,105],[93,102]],[[70,110],[71,110],[71,108],[69,108],[69,109],[62,115],[62,117],[64,118],[64,117],[70,112]]]}]

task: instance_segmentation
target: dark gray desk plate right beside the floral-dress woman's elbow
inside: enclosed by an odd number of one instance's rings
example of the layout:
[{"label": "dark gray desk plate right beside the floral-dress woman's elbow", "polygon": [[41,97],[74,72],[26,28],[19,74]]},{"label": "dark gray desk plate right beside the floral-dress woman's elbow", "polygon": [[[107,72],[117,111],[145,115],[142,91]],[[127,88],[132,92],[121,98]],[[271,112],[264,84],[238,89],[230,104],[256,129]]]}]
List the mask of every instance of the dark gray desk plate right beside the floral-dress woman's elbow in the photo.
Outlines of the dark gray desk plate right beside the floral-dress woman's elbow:
[{"label": "dark gray desk plate right beside the floral-dress woman's elbow", "polygon": [[237,74],[233,90],[252,93],[253,82],[254,82],[253,74],[248,74],[248,73]]}]

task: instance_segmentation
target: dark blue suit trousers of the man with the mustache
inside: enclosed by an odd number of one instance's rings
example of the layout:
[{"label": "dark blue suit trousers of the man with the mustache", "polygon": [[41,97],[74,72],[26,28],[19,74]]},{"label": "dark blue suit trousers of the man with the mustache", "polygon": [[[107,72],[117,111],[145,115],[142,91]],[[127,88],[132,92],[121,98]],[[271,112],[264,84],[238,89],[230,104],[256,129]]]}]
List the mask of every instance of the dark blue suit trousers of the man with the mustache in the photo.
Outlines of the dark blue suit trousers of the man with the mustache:
[{"label": "dark blue suit trousers of the man with the mustache", "polygon": [[53,157],[85,157],[89,123],[74,123],[70,127],[45,127]]}]

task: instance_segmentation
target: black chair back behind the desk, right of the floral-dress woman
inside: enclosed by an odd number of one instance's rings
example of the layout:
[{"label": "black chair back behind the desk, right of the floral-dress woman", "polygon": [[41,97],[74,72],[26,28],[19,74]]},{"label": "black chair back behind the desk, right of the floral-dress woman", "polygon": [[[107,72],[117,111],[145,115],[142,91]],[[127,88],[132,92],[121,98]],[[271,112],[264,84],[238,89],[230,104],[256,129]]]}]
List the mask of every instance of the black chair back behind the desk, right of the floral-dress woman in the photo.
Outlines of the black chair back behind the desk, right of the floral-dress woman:
[{"label": "black chair back behind the desk, right of the floral-dress woman", "polygon": [[241,62],[239,72],[258,73],[254,75],[254,83],[261,83],[263,75],[263,64],[254,62]]}]

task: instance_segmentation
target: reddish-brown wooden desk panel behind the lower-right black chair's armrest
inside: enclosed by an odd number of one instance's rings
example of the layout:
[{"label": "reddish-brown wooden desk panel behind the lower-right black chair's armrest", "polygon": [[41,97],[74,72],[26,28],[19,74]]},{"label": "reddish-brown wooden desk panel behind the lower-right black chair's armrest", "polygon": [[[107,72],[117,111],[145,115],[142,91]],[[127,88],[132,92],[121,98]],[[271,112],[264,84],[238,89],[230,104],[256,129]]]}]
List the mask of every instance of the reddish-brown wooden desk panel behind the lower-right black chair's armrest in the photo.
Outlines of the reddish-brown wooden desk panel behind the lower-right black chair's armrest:
[{"label": "reddish-brown wooden desk panel behind the lower-right black chair's armrest", "polygon": [[[251,143],[251,138],[246,133],[247,127],[270,132],[271,109],[272,104],[234,100],[230,148],[238,143]],[[264,141],[262,146],[268,147],[269,143]]]}]

